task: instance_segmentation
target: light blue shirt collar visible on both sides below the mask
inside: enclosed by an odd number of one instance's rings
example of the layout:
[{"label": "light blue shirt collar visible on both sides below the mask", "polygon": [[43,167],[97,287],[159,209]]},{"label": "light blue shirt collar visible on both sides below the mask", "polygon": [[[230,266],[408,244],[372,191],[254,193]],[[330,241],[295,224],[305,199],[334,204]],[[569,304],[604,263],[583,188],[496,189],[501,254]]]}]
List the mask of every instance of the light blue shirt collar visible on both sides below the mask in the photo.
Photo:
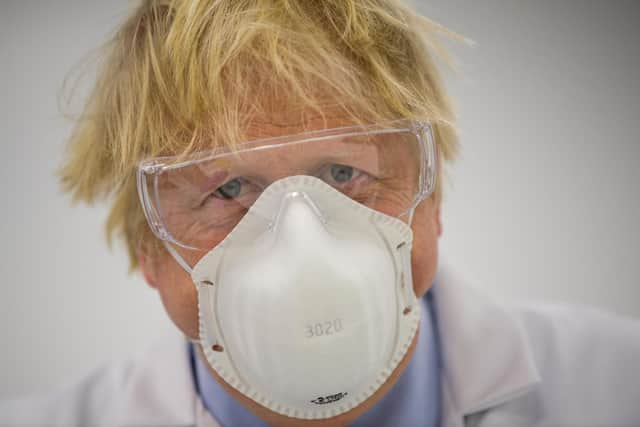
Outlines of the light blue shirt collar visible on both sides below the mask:
[{"label": "light blue shirt collar visible on both sides below the mask", "polygon": [[[351,427],[435,427],[440,421],[440,356],[433,289],[420,301],[422,316],[415,353],[393,388]],[[269,427],[232,398],[189,345],[193,375],[204,407],[222,427]]]}]

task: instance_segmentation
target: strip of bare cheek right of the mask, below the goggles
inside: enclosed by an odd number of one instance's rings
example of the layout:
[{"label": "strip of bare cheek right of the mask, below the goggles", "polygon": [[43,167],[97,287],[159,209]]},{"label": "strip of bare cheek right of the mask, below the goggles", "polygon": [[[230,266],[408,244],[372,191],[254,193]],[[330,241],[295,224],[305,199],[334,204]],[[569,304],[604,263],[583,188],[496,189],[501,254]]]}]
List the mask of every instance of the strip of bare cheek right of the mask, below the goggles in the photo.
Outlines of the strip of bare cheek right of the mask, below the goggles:
[{"label": "strip of bare cheek right of the mask, below the goggles", "polygon": [[411,267],[413,290],[421,298],[433,284],[438,265],[438,209],[425,200],[413,215],[413,250]]}]

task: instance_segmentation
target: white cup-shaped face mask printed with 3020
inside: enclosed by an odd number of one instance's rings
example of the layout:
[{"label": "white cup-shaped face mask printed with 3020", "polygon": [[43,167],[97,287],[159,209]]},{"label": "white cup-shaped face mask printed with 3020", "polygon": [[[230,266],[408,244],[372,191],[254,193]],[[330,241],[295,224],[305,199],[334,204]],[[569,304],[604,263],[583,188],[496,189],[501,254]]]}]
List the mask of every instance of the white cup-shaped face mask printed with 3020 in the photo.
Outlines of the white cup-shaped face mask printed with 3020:
[{"label": "white cup-shaped face mask printed with 3020", "polygon": [[282,415],[354,408],[416,333],[411,244],[407,224],[320,179],[272,183],[192,271],[208,363]]}]

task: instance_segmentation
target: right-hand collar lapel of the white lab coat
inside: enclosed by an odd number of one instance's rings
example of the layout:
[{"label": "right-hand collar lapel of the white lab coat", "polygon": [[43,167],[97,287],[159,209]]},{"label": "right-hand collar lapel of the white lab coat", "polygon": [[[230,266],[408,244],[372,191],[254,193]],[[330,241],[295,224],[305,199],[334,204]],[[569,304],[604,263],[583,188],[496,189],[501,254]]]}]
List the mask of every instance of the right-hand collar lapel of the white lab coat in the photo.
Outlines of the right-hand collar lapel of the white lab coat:
[{"label": "right-hand collar lapel of the white lab coat", "polygon": [[434,286],[445,426],[526,393],[540,382],[532,351],[504,305],[441,265]]}]

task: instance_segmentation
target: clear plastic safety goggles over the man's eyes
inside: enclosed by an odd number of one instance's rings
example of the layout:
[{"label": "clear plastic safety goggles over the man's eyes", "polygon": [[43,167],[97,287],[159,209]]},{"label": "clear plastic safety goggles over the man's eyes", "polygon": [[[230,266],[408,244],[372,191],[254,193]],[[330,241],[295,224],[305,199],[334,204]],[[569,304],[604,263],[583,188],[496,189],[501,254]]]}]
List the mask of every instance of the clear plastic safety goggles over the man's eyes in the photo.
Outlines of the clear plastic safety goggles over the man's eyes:
[{"label": "clear plastic safety goggles over the man's eyes", "polygon": [[138,166],[138,192],[153,233],[180,248],[209,251],[272,182],[311,175],[386,215],[405,217],[435,188],[436,147],[428,123],[396,121],[263,138]]}]

